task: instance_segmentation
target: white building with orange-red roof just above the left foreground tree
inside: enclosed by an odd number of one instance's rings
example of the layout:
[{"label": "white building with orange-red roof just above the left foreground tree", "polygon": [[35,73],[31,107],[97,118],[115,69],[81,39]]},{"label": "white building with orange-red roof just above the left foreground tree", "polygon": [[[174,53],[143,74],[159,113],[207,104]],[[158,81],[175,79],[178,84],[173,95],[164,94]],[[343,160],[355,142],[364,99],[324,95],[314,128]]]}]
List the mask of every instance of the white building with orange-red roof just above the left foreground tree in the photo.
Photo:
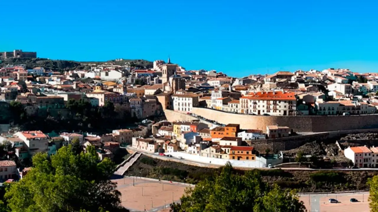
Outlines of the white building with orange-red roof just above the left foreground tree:
[{"label": "white building with orange-red roof just above the left foreground tree", "polygon": [[48,138],[42,131],[20,131],[14,134],[20,138],[29,155],[48,151]]}]

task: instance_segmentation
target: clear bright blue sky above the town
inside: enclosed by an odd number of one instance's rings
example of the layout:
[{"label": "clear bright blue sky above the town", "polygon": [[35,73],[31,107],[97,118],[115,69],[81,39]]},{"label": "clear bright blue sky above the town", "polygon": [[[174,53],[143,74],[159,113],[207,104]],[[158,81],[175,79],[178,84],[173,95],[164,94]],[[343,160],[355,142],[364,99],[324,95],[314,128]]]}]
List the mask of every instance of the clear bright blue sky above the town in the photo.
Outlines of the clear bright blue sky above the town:
[{"label": "clear bright blue sky above the town", "polygon": [[170,55],[186,69],[233,76],[329,67],[369,72],[378,68],[377,6],[339,0],[4,1],[0,51],[79,61]]}]

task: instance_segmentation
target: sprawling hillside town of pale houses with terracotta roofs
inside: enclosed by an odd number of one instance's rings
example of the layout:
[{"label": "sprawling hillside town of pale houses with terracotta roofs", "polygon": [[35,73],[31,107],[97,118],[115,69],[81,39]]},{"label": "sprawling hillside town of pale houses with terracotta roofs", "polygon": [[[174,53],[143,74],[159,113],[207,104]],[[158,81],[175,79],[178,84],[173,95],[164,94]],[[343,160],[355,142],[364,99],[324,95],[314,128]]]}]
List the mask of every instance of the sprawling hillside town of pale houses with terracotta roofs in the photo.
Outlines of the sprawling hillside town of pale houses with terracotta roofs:
[{"label": "sprawling hillside town of pale houses with terracotta roofs", "polygon": [[[17,57],[16,53],[4,55]],[[119,148],[127,147],[200,163],[224,164],[223,160],[227,160],[234,161],[235,166],[272,167],[283,163],[285,148],[263,149],[254,146],[256,141],[273,141],[301,132],[279,124],[242,129],[240,123],[232,120],[219,123],[201,117],[193,113],[194,108],[256,117],[346,117],[373,115],[378,107],[378,74],[360,74],[349,69],[278,71],[235,78],[214,70],[186,70],[170,58],[153,61],[150,69],[140,69],[130,62],[93,63],[88,67],[62,71],[2,64],[0,140],[14,148],[17,164],[4,162],[0,170],[11,173],[0,175],[0,180],[22,175],[27,167],[20,161],[30,160],[37,152],[54,155],[74,139],[84,149],[95,146],[101,160],[113,159]],[[17,127],[17,119],[12,117],[17,106],[26,117],[64,120],[72,116],[70,110],[77,103],[88,104],[95,110],[103,108],[105,115],[105,108],[122,108],[122,120],[132,124],[107,128],[106,133],[81,128],[73,132],[43,132]],[[168,111],[192,119],[168,121],[164,117]],[[73,114],[73,119],[83,117]],[[376,147],[348,147],[344,154],[356,167],[376,167]]]}]

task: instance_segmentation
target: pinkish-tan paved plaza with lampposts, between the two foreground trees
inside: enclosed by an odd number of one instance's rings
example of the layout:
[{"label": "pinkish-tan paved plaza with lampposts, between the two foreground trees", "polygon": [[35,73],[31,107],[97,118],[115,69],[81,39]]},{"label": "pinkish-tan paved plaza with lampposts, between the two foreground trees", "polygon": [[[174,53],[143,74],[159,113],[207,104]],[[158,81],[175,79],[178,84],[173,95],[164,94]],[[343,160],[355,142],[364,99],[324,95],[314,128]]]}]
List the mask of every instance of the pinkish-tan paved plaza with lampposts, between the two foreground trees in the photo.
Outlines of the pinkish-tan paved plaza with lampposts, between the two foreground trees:
[{"label": "pinkish-tan paved plaza with lampposts, between the two foreground trees", "polygon": [[[180,200],[189,184],[139,177],[112,180],[118,184],[122,206],[130,211],[169,211],[169,204]],[[133,186],[134,184],[134,186]]]}]

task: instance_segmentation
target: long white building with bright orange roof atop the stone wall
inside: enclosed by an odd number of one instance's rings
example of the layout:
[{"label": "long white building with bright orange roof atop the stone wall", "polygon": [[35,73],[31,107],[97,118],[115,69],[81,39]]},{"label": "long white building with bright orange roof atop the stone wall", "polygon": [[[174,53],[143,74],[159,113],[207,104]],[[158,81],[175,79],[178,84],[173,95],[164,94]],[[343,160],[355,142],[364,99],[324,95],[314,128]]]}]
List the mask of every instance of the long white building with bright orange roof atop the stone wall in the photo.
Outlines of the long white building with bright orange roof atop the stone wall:
[{"label": "long white building with bright orange roof atop the stone wall", "polygon": [[240,97],[240,109],[245,114],[294,115],[296,104],[294,92],[260,91]]}]

